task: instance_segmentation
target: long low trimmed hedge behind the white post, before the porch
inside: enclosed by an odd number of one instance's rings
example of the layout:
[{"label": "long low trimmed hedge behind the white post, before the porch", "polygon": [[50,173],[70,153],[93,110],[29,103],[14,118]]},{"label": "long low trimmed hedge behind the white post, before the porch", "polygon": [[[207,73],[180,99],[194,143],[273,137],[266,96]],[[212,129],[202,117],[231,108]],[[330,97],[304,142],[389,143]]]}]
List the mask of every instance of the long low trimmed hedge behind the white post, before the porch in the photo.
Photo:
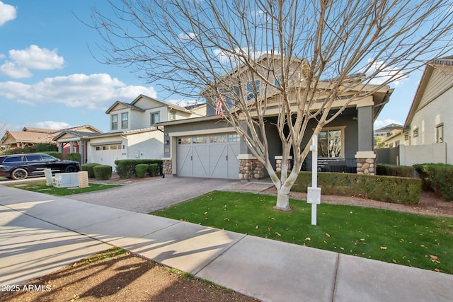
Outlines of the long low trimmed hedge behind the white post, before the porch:
[{"label": "long low trimmed hedge behind the white post, before the porch", "polygon": [[[350,173],[318,173],[322,194],[362,197],[395,204],[418,204],[421,181],[417,178],[357,175]],[[294,192],[306,192],[311,186],[311,172],[301,172],[292,187]]]}]

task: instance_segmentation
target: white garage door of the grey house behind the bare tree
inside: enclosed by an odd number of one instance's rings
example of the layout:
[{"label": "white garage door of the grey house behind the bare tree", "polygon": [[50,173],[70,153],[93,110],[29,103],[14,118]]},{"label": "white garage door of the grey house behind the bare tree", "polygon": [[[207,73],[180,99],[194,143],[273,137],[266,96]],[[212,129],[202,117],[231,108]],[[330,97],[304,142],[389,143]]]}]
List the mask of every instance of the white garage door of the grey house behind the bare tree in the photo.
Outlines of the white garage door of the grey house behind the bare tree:
[{"label": "white garage door of the grey house behind the bare tree", "polygon": [[238,134],[178,138],[176,173],[200,178],[237,179],[239,141]]}]

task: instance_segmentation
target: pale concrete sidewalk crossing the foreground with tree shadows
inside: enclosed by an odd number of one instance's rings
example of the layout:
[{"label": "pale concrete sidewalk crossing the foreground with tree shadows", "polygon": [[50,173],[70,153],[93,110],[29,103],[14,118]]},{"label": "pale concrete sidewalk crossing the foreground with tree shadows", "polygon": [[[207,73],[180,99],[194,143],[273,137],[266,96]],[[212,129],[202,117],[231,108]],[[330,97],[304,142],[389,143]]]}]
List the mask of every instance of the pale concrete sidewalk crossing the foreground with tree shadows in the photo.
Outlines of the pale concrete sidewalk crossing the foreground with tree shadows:
[{"label": "pale concrete sidewalk crossing the foreground with tree shadows", "polygon": [[263,301],[452,301],[453,276],[0,185],[0,284],[116,245]]}]

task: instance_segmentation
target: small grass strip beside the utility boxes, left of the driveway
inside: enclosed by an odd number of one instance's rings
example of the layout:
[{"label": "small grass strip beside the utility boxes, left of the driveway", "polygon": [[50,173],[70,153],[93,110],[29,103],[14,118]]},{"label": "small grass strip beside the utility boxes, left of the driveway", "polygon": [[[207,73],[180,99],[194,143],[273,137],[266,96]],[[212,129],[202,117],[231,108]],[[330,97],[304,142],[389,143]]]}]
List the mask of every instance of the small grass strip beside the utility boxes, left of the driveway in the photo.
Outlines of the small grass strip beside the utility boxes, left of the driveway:
[{"label": "small grass strip beside the utility boxes, left of the driveway", "polygon": [[54,187],[45,184],[45,180],[23,182],[19,184],[7,185],[8,187],[16,187],[17,189],[40,192],[50,194],[54,196],[66,196],[72,194],[80,194],[86,192],[94,192],[98,190],[110,189],[113,187],[119,187],[119,185],[100,185],[100,184],[89,184],[88,187]]}]

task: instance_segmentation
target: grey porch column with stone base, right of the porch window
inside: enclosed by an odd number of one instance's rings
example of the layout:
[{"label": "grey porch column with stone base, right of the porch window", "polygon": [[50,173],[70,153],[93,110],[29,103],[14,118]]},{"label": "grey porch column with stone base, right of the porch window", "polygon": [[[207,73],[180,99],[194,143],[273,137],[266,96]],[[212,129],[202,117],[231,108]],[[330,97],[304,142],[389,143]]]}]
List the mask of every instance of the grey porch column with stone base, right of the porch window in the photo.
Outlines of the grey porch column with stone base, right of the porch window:
[{"label": "grey porch column with stone base, right of the porch window", "polygon": [[376,153],[373,150],[373,105],[372,99],[357,104],[358,151],[355,153],[357,174],[374,175]]}]

